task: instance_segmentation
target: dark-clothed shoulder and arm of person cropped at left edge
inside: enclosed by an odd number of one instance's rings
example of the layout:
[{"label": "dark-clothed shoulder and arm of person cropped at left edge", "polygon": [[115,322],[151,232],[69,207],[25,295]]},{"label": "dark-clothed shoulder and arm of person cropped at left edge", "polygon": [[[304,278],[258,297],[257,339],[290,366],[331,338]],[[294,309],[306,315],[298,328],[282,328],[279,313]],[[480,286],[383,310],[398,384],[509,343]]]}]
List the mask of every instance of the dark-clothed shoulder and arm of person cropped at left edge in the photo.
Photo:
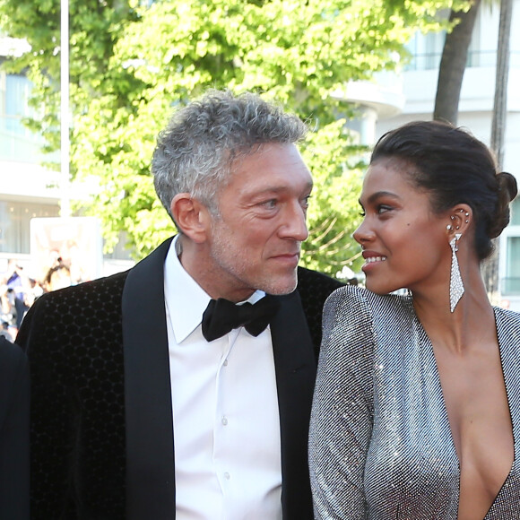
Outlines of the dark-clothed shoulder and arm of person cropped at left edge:
[{"label": "dark-clothed shoulder and arm of person cropped at left edge", "polygon": [[0,518],[29,518],[29,368],[0,336]]}]

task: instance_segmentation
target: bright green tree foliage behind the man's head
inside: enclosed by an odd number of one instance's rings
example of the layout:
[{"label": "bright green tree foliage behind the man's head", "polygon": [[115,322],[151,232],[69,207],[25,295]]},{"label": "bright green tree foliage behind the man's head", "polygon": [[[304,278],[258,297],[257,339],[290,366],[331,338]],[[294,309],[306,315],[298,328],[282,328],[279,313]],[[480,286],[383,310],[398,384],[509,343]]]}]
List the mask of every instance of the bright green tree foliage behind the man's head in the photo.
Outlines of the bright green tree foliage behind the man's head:
[{"label": "bright green tree foliage behind the man's head", "polygon": [[[71,171],[97,179],[84,211],[106,243],[126,230],[137,256],[172,224],[153,193],[150,159],[172,108],[208,87],[260,91],[309,121],[305,146],[316,190],[302,261],[335,273],[356,256],[351,232],[362,151],[342,125],[337,93],[405,59],[415,30],[464,0],[70,0]],[[59,0],[0,0],[0,26],[31,51],[11,60],[34,82],[33,128],[59,146]],[[355,267],[355,265],[354,265]]]}]

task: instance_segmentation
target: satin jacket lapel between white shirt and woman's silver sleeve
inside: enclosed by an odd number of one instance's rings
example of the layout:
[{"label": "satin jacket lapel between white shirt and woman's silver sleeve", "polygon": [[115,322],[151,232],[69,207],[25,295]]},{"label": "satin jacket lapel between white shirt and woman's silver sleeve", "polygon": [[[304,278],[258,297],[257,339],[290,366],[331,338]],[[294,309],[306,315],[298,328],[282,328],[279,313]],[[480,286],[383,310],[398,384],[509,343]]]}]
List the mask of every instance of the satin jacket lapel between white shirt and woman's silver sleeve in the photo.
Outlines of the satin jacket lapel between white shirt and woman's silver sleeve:
[{"label": "satin jacket lapel between white shirt and woman's silver sleeve", "polygon": [[271,324],[282,435],[283,518],[312,518],[308,422],[316,360],[298,291],[280,297]]}]

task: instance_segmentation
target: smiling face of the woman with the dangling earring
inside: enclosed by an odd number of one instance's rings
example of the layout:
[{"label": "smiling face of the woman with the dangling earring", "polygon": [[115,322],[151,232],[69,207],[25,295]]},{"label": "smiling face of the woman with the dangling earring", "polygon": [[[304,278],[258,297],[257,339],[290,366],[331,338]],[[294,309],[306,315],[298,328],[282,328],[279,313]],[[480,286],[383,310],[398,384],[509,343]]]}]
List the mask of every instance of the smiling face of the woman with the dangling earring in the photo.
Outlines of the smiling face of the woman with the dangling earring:
[{"label": "smiling face of the woman with the dangling earring", "polygon": [[364,220],[353,236],[363,249],[367,288],[378,294],[449,282],[449,214],[431,212],[429,194],[412,186],[409,168],[401,160],[380,159],[363,182]]}]

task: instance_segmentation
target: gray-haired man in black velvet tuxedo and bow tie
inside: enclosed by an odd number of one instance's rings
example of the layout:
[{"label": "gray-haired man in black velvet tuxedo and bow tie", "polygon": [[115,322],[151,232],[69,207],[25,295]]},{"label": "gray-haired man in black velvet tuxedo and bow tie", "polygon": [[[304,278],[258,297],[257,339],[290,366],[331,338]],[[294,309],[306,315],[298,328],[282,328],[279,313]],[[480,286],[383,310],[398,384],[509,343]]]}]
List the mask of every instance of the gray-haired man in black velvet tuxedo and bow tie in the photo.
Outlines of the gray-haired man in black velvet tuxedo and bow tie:
[{"label": "gray-haired man in black velvet tuxedo and bow tie", "polygon": [[313,518],[321,311],[341,284],[298,267],[306,132],[250,93],[179,108],[152,159],[178,235],[30,309],[34,518]]}]

